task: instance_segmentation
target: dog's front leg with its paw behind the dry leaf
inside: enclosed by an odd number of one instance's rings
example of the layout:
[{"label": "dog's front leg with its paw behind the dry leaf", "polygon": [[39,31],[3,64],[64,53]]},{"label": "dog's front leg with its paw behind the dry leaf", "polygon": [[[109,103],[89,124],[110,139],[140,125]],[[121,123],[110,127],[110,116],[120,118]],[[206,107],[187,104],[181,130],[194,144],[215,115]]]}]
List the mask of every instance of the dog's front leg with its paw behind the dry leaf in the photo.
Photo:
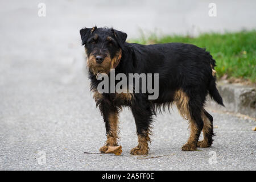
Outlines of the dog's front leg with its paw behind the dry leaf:
[{"label": "dog's front leg with its paw behind the dry leaf", "polygon": [[101,105],[101,114],[104,118],[106,126],[107,140],[100,148],[101,153],[105,153],[108,150],[108,146],[117,146],[118,139],[118,110],[109,109],[109,106]]}]

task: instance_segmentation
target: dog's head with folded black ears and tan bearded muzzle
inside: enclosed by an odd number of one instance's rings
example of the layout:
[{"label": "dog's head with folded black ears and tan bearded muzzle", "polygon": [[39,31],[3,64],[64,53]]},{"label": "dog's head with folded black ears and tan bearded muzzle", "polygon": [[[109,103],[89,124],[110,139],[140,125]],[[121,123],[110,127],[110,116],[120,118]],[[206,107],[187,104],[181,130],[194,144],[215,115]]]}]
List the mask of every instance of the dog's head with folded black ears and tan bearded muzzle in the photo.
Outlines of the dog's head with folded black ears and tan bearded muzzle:
[{"label": "dog's head with folded black ears and tan bearded muzzle", "polygon": [[117,67],[127,34],[113,28],[82,28],[82,45],[87,55],[87,66],[94,75],[109,73]]}]

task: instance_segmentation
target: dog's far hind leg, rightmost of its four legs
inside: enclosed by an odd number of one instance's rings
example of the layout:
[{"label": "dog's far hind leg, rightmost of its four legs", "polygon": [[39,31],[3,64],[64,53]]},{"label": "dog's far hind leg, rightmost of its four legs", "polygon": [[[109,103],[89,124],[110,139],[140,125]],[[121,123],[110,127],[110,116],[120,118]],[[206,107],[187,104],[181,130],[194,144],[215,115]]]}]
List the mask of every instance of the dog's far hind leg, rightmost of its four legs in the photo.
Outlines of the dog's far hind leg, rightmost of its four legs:
[{"label": "dog's far hind leg, rightmost of its four legs", "polygon": [[203,133],[204,133],[204,140],[201,140],[197,143],[197,147],[210,147],[212,145],[214,136],[213,133],[213,117],[210,115],[206,110],[202,111],[202,118],[204,121]]}]

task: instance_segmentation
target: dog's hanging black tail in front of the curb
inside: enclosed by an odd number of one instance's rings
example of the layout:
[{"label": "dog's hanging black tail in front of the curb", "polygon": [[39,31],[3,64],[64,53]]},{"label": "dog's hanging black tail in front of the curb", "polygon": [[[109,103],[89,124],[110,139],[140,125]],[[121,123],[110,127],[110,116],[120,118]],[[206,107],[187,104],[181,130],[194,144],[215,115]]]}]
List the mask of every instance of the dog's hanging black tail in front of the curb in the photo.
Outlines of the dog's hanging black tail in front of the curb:
[{"label": "dog's hanging black tail in front of the curb", "polygon": [[216,64],[214,59],[211,59],[210,65],[212,67],[212,79],[210,79],[210,84],[209,84],[210,97],[213,98],[213,100],[216,101],[218,104],[224,106],[222,97],[220,96],[220,93],[218,93],[218,89],[216,87],[216,71],[214,70],[214,66]]}]

